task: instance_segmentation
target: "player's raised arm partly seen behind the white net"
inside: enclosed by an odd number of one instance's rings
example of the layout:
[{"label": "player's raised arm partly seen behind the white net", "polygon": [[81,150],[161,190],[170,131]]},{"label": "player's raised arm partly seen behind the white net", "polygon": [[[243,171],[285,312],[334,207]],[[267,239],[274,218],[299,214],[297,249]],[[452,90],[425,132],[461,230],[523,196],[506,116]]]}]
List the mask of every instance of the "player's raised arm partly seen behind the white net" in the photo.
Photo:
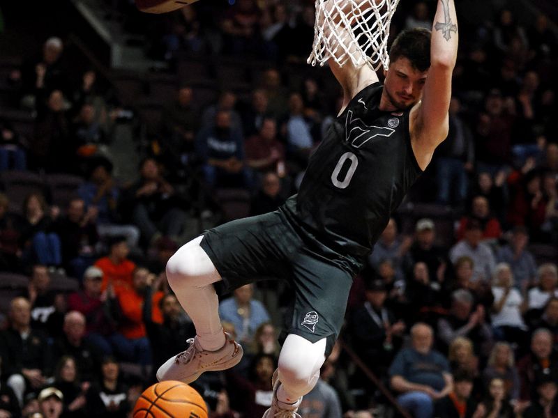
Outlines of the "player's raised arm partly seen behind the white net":
[{"label": "player's raised arm partly seen behind the white net", "polygon": [[[349,6],[349,1],[346,0],[338,1],[338,3],[346,3],[346,8],[352,7]],[[331,6],[332,2],[330,2],[329,4]],[[324,34],[327,38],[329,38],[330,30],[331,29],[329,24],[324,25]],[[349,33],[349,30],[346,29],[345,26],[341,26],[340,28],[338,28],[335,32],[335,36],[340,39],[340,42],[345,45],[346,49],[349,49],[349,53],[353,54],[353,52],[356,51],[356,47],[354,45],[352,47],[349,46],[352,45],[352,42],[349,42],[352,34]],[[347,40],[347,42],[343,42],[343,40]],[[338,49],[335,52],[335,58],[340,59],[343,52],[344,51],[342,49]],[[328,64],[329,68],[331,68],[331,72],[333,72],[333,75],[335,75],[335,78],[337,79],[339,84],[341,84],[341,87],[343,89],[343,104],[341,107],[341,112],[345,110],[345,107],[347,107],[356,93],[359,93],[359,91],[361,91],[366,86],[369,86],[370,84],[378,81],[376,72],[366,64],[362,65],[360,68],[356,68],[352,61],[350,59],[347,59],[347,61],[342,66],[340,66],[333,58],[329,59]]]}]

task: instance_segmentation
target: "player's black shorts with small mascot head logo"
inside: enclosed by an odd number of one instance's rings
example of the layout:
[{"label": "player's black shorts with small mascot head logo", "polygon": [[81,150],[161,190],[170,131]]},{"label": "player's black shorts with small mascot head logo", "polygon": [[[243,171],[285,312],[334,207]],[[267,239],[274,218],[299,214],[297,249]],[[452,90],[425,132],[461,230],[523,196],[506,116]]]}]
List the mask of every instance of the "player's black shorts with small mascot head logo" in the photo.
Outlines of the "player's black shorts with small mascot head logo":
[{"label": "player's black shorts with small mascot head logo", "polygon": [[294,295],[280,340],[288,334],[315,343],[327,339],[331,353],[345,317],[352,272],[342,258],[325,256],[296,233],[280,211],[210,229],[200,243],[227,291],[262,279],[286,279]]}]

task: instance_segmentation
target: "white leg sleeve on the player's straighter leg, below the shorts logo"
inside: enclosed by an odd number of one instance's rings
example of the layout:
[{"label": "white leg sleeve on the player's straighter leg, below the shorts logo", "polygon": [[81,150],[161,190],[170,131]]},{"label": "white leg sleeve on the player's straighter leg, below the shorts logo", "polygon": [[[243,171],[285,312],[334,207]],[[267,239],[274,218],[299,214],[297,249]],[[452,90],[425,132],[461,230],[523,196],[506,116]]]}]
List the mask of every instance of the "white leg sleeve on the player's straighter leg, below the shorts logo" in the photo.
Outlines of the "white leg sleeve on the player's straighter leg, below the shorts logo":
[{"label": "white leg sleeve on the player's straighter leg, below the shorts logo", "polygon": [[289,334],[279,355],[278,401],[295,403],[316,385],[319,369],[326,359],[326,339],[311,343],[295,334]]}]

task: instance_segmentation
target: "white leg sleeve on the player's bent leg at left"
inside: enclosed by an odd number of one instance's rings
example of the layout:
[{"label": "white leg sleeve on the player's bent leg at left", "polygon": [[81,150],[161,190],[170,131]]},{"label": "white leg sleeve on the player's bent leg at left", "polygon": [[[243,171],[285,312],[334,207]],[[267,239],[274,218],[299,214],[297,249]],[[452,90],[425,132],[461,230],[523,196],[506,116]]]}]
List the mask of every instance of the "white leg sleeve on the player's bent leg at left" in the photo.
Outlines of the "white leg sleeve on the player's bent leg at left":
[{"label": "white leg sleeve on the player's bent leg at left", "polygon": [[199,246],[202,236],[187,242],[169,259],[167,280],[183,309],[192,319],[204,350],[225,344],[219,318],[219,300],[213,283],[221,277],[211,258]]}]

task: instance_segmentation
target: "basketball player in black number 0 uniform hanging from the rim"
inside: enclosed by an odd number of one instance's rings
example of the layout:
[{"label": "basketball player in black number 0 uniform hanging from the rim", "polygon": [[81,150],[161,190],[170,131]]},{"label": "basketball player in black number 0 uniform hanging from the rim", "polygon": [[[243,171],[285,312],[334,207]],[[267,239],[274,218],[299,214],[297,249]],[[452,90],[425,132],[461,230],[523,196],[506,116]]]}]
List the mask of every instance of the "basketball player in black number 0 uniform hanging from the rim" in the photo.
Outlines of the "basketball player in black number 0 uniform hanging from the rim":
[{"label": "basketball player in black number 0 uniform hanging from the rim", "polygon": [[213,283],[232,289],[262,277],[287,279],[294,294],[264,417],[299,417],[301,398],[340,332],[352,279],[447,136],[456,22],[453,0],[439,0],[432,34],[401,33],[383,86],[368,66],[330,60],[344,102],[299,194],[276,212],[207,231],[169,260],[169,284],[196,336],[160,366],[159,380],[193,382],[240,361],[241,346],[223,333]]}]

